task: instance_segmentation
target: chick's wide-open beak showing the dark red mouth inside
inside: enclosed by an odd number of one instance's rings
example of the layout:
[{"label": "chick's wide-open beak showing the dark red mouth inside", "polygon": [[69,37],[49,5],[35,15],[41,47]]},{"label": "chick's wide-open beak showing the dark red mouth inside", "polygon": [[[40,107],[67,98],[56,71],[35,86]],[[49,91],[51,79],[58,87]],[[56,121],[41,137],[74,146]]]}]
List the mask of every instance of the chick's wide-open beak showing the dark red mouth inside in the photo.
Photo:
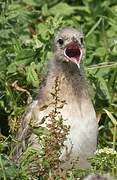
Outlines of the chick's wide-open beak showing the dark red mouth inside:
[{"label": "chick's wide-open beak showing the dark red mouth inside", "polygon": [[78,45],[72,44],[65,48],[64,55],[73,63],[78,64],[80,63],[82,53]]}]

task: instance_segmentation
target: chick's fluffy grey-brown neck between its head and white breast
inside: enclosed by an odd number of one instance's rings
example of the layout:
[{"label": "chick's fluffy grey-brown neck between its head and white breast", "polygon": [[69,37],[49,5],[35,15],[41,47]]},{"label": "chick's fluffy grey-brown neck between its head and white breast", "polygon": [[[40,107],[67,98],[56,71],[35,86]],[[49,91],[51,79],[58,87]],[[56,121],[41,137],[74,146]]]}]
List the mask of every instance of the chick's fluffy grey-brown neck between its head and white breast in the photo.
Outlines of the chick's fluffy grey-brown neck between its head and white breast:
[{"label": "chick's fluffy grey-brown neck between its head and white breast", "polygon": [[41,99],[52,100],[51,94],[55,92],[56,83],[61,99],[87,99],[87,83],[83,72],[76,64],[54,60],[50,64],[45,85],[41,88]]}]

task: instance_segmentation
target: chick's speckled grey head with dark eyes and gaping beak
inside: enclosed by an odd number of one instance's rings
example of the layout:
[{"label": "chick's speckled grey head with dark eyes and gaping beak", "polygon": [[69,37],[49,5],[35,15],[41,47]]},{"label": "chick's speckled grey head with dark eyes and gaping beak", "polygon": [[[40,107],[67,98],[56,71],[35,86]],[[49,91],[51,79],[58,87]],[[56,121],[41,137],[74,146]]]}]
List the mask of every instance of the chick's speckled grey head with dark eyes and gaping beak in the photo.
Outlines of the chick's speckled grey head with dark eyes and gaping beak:
[{"label": "chick's speckled grey head with dark eyes and gaping beak", "polygon": [[74,28],[64,28],[55,37],[55,57],[80,67],[85,57],[84,36]]}]

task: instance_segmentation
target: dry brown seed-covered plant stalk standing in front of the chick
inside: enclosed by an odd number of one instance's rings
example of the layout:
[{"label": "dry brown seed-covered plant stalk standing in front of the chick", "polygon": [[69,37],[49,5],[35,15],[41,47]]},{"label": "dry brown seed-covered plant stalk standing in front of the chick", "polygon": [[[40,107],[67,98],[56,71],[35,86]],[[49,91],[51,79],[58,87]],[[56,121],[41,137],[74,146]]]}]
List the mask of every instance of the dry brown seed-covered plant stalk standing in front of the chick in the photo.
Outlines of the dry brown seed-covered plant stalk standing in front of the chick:
[{"label": "dry brown seed-covered plant stalk standing in front of the chick", "polygon": [[41,176],[43,178],[55,179],[56,176],[60,175],[59,157],[70,127],[63,124],[60,109],[63,108],[65,101],[60,100],[58,95],[59,90],[59,79],[57,77],[55,79],[54,92],[51,93],[53,97],[51,103],[53,104],[53,110],[42,120],[48,121],[46,128],[43,128],[45,133],[37,133],[42,127],[34,127],[33,124],[30,123],[30,130],[38,135],[41,148],[33,151],[29,147],[21,158],[20,163],[25,166],[25,161],[30,159],[31,162],[27,170],[31,178],[33,178],[32,175],[34,175],[35,177]]}]

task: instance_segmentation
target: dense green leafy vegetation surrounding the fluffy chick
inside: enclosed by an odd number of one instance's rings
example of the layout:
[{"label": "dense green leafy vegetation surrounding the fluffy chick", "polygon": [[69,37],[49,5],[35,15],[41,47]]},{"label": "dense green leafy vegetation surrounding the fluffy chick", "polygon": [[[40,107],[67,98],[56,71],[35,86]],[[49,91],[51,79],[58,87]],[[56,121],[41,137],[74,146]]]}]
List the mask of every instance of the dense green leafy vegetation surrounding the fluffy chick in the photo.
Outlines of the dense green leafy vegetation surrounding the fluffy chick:
[{"label": "dense green leafy vegetation surrounding the fluffy chick", "polygon": [[[1,0],[0,179],[38,179],[25,163],[11,160],[11,142],[16,142],[18,120],[38,93],[44,64],[52,57],[54,34],[65,26],[85,34],[84,64],[99,121],[98,152],[91,169],[73,170],[67,178],[88,173],[110,173],[117,178],[116,0]],[[40,179],[49,177],[50,173]]]}]

